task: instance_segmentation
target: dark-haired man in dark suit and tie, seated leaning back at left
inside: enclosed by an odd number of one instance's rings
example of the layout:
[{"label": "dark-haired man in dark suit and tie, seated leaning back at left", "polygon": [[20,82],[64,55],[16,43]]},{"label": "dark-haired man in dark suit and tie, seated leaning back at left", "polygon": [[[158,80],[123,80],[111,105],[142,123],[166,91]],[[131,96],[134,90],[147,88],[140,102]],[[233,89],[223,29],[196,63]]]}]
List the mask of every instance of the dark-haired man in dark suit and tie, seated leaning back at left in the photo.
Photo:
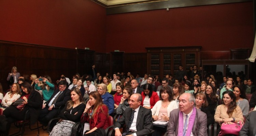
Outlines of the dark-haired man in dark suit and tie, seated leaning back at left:
[{"label": "dark-haired man in dark suit and tie, seated leaning back at left", "polygon": [[64,107],[66,102],[71,100],[70,90],[67,88],[67,81],[61,80],[59,88],[56,89],[51,98],[45,102],[46,106],[40,112],[38,120],[47,126],[48,122],[53,119],[59,111],[59,107]]}]

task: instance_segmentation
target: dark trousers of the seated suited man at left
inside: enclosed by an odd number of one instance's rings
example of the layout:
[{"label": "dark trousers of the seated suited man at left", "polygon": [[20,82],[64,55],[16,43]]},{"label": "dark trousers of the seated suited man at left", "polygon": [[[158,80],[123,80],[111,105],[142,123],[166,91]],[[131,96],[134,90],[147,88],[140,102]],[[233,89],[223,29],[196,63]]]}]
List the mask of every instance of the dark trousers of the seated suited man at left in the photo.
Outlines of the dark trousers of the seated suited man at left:
[{"label": "dark trousers of the seated suited man at left", "polygon": [[47,126],[48,122],[56,117],[58,114],[59,109],[58,108],[53,108],[51,111],[48,110],[48,105],[45,106],[40,112],[38,120],[44,125]]}]

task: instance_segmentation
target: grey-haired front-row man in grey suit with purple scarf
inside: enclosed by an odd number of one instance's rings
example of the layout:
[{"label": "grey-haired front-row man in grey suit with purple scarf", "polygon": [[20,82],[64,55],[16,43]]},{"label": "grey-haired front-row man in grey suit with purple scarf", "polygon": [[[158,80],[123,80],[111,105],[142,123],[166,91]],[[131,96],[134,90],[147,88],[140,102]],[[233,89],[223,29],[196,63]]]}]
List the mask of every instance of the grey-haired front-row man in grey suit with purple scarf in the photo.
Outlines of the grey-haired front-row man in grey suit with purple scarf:
[{"label": "grey-haired front-row man in grey suit with purple scarf", "polygon": [[194,95],[184,93],[179,101],[180,109],[174,109],[170,113],[167,136],[207,136],[207,116],[195,108]]}]

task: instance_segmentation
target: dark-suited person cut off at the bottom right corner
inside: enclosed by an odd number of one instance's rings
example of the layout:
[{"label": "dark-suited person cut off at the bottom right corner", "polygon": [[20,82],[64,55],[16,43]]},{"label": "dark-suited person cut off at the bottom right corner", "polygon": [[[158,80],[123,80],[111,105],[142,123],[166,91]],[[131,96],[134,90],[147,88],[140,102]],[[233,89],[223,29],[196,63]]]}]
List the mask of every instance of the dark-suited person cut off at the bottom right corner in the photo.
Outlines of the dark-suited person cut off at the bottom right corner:
[{"label": "dark-suited person cut off at the bottom right corner", "polygon": [[239,132],[239,136],[255,136],[256,134],[256,111],[252,111],[243,125],[243,128]]}]

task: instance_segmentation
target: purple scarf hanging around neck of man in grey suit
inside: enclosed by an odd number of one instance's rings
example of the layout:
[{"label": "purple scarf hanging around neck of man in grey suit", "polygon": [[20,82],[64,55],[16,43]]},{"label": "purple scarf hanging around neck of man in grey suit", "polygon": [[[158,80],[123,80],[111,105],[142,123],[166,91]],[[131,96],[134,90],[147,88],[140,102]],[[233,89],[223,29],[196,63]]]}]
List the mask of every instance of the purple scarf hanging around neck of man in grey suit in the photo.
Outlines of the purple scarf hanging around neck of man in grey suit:
[{"label": "purple scarf hanging around neck of man in grey suit", "polygon": [[[188,120],[188,128],[186,131],[186,136],[190,136],[193,126],[194,126],[194,122],[195,122],[195,118],[196,118],[196,108],[193,108],[193,112],[190,115],[190,118]],[[179,130],[178,130],[178,136],[182,136],[183,134],[183,127],[184,127],[184,123],[183,123],[183,112],[179,112]]]}]

